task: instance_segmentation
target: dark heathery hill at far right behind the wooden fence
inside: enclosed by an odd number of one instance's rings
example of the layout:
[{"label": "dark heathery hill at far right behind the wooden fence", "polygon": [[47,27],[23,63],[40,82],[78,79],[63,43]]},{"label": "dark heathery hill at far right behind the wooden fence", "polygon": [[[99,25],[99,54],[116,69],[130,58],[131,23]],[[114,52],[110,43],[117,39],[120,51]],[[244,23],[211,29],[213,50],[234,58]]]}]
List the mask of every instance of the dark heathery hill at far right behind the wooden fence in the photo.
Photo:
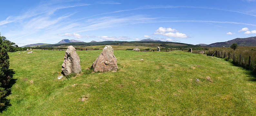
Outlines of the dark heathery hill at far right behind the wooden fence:
[{"label": "dark heathery hill at far right behind the wooden fence", "polygon": [[236,38],[229,40],[227,42],[217,42],[212,43],[206,46],[209,47],[223,47],[223,46],[231,46],[231,44],[237,43],[238,46],[256,46],[256,36],[255,37],[248,37],[248,38]]}]

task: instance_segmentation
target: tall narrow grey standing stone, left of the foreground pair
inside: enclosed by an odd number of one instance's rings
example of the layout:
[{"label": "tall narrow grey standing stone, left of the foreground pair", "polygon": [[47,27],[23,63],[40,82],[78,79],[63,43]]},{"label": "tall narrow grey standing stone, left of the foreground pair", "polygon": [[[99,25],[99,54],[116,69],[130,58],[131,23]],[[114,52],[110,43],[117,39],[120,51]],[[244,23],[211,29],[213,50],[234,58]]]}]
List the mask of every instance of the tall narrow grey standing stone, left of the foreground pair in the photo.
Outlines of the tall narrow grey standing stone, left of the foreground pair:
[{"label": "tall narrow grey standing stone, left of the foreground pair", "polygon": [[61,66],[62,73],[65,76],[69,75],[70,73],[81,72],[80,58],[72,45],[68,46],[65,52],[63,64]]}]

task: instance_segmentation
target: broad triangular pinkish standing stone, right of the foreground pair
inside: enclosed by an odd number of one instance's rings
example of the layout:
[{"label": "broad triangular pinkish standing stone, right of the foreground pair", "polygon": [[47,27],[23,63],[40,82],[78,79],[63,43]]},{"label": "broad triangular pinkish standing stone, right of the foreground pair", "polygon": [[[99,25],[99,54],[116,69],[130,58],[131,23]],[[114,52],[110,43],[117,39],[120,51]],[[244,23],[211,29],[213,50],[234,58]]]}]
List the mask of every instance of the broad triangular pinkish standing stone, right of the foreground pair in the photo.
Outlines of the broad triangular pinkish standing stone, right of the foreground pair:
[{"label": "broad triangular pinkish standing stone, right of the foreground pair", "polygon": [[94,72],[117,71],[116,57],[110,45],[104,47],[99,57],[93,62],[92,68]]}]

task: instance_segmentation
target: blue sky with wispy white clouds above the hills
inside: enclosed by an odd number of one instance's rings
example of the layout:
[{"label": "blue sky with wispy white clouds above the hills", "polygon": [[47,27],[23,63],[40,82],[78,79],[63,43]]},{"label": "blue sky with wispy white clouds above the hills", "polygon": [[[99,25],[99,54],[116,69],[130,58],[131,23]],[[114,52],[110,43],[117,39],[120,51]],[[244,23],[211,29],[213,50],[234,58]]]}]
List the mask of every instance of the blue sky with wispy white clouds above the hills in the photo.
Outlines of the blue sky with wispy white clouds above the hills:
[{"label": "blue sky with wispy white clouds above the hills", "polygon": [[256,0],[3,0],[0,33],[19,46],[62,39],[211,44],[256,36]]}]

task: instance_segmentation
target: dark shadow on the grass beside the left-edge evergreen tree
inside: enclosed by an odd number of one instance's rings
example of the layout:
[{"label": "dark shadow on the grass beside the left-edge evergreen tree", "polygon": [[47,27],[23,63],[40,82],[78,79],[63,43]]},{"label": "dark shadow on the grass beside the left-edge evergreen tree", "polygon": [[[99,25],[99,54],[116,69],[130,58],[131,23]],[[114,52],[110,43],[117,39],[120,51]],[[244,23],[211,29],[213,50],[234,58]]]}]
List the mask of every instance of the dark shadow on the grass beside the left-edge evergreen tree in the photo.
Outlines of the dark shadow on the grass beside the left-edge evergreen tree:
[{"label": "dark shadow on the grass beside the left-edge evergreen tree", "polygon": [[16,83],[16,80],[17,79],[13,79],[13,74],[15,74],[15,71],[13,69],[9,69],[7,71],[9,77],[10,77],[10,82],[8,85],[6,85],[4,88],[5,88],[5,91],[6,91],[6,94],[2,97],[1,99],[1,103],[4,103],[4,106],[2,106],[0,108],[0,112],[3,112],[4,110],[6,110],[9,106],[11,106],[11,103],[10,103],[10,100],[7,99],[6,97],[9,96],[11,94],[11,87]]}]

